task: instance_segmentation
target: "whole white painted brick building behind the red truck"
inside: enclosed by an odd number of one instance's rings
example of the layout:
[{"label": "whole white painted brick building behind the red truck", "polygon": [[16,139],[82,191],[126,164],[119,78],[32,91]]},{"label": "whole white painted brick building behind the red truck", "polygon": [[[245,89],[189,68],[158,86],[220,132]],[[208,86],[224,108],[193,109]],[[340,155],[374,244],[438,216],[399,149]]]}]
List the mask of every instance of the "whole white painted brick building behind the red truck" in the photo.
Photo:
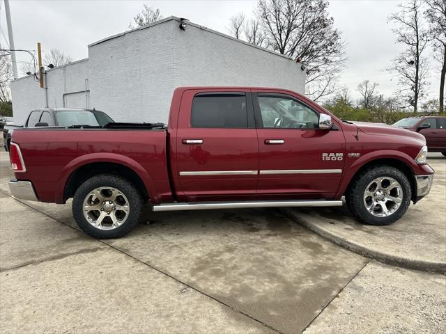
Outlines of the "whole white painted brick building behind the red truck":
[{"label": "whole white painted brick building behind the red truck", "polygon": [[[178,86],[268,86],[303,93],[300,63],[206,27],[168,17],[89,45],[89,58],[13,81],[13,112],[23,124],[33,108],[105,111],[121,122],[167,122]],[[45,64],[47,65],[47,64]]]}]

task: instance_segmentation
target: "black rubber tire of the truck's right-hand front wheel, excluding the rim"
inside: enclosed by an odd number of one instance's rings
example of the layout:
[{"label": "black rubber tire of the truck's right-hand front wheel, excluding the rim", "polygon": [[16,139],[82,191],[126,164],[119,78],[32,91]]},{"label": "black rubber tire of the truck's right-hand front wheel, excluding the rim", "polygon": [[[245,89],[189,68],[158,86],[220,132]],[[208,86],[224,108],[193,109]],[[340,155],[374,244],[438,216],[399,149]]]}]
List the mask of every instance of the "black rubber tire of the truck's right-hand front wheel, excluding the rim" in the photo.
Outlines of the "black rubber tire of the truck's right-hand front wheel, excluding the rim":
[{"label": "black rubber tire of the truck's right-hand front wheel, excluding the rim", "polygon": [[[399,208],[389,216],[374,216],[364,204],[364,191],[366,191],[367,186],[378,177],[392,177],[401,185],[401,204]],[[410,188],[408,178],[401,172],[401,170],[392,166],[374,166],[362,171],[355,177],[355,180],[353,180],[351,187],[346,193],[348,209],[351,210],[357,219],[369,225],[389,225],[390,223],[397,221],[406,213],[411,198],[412,189]]]}]

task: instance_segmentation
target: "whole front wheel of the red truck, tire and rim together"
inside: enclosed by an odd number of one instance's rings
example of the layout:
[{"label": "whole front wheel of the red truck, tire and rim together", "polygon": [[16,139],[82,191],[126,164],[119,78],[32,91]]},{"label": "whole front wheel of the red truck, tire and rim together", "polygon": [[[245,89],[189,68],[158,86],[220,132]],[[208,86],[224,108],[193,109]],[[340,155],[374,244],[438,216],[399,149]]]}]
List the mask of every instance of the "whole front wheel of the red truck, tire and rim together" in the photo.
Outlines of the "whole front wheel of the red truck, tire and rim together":
[{"label": "whole front wheel of the red truck, tire and rim together", "polygon": [[360,221],[388,225],[406,213],[412,189],[406,175],[391,166],[364,170],[346,194],[348,208]]}]

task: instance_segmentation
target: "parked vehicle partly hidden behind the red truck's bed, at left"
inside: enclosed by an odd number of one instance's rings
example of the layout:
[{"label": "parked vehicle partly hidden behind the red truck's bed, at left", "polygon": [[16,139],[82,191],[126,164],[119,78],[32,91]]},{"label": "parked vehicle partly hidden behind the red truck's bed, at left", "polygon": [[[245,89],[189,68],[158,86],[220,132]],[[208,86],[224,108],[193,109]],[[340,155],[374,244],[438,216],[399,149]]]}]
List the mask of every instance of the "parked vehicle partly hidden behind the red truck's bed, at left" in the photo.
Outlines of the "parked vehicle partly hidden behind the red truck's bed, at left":
[{"label": "parked vehicle partly hidden behind the red truck's bed, at left", "polygon": [[95,127],[104,126],[110,122],[114,122],[114,120],[107,113],[95,109],[35,109],[29,113],[24,125],[7,125],[3,129],[3,146],[9,152],[13,129],[22,127],[70,127],[72,125]]}]

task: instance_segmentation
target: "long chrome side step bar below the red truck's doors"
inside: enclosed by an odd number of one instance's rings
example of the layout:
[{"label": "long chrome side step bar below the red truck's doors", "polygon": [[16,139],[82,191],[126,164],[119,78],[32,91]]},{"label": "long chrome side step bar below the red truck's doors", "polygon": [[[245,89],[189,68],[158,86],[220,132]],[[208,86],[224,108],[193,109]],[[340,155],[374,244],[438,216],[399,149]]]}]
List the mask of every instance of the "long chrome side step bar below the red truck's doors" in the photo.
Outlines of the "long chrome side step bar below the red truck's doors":
[{"label": "long chrome side step bar below the red truck's doors", "polygon": [[240,209],[243,207],[341,207],[341,200],[266,200],[256,202],[192,202],[153,205],[153,211]]}]

